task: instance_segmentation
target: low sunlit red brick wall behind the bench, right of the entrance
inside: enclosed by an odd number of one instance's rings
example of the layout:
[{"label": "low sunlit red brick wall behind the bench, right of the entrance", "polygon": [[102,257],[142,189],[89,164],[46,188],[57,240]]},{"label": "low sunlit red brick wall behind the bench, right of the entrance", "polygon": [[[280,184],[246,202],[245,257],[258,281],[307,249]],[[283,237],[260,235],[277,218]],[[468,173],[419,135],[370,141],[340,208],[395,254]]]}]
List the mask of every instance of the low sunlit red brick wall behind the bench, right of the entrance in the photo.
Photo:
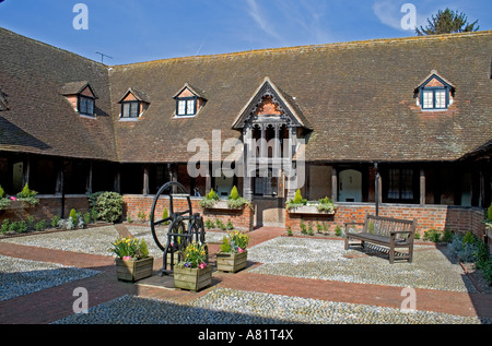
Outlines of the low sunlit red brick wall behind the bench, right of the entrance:
[{"label": "low sunlit red brick wall behind the bench, right of the entrance", "polygon": [[[335,215],[307,215],[290,214],[285,212],[285,226],[291,226],[293,230],[300,229],[301,219],[306,224],[312,222],[326,223],[330,230],[337,225],[344,223],[363,223],[366,214],[375,214],[373,203],[361,204],[338,204]],[[379,207],[379,215],[395,218],[413,219],[417,218],[417,230],[421,235],[427,229],[449,229],[465,232],[471,230],[476,236],[483,237],[483,210],[478,207],[460,207],[447,205],[411,205],[395,204]]]}]

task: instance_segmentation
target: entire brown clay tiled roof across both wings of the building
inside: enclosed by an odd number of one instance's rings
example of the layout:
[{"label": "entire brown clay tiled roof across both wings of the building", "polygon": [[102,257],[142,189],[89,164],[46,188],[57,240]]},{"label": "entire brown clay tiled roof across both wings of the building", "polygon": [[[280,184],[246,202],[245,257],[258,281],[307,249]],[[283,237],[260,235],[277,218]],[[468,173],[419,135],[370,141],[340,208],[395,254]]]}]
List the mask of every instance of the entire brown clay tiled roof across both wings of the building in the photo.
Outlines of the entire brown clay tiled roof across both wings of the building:
[{"label": "entire brown clay tiled roof across both wings of the building", "polygon": [[[492,139],[492,32],[376,39],[105,65],[0,29],[0,127],[16,150],[122,163],[186,163],[192,139],[212,147],[239,138],[234,120],[265,79],[302,115],[307,160],[455,160]],[[414,91],[432,71],[455,87],[446,111],[422,111]],[[87,81],[96,119],[60,95]],[[207,98],[196,117],[175,116],[188,85]],[[191,86],[192,85],[192,86]],[[131,87],[151,99],[138,121],[119,121]],[[206,95],[206,96],[203,96]],[[24,138],[25,134],[25,138]],[[21,138],[24,140],[21,140]],[[223,157],[230,153],[223,153]]]}]

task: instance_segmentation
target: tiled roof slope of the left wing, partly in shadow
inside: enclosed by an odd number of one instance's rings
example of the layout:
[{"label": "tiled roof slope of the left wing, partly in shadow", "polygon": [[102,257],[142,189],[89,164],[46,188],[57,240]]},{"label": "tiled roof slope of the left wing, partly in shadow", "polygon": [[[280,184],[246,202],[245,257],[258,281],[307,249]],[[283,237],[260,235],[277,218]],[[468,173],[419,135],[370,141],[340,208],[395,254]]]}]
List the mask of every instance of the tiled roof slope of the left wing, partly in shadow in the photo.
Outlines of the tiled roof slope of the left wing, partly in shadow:
[{"label": "tiled roof slope of the left wing, partly in shadow", "polygon": [[[0,28],[0,151],[116,159],[105,65]],[[80,82],[83,81],[83,82]],[[95,119],[81,117],[62,95],[90,84],[99,96]]]}]

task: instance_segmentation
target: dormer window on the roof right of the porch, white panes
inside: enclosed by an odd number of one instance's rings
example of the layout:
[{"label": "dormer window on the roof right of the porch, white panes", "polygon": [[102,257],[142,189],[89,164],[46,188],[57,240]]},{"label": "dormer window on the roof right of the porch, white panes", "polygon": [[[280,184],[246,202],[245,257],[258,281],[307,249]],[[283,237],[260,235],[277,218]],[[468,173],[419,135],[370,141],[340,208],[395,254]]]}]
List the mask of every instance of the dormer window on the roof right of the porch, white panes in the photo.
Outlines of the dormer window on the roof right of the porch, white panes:
[{"label": "dormer window on the roof right of the porch, white panes", "polygon": [[431,75],[415,88],[418,105],[422,110],[445,110],[453,103],[454,91],[453,84],[432,71]]}]

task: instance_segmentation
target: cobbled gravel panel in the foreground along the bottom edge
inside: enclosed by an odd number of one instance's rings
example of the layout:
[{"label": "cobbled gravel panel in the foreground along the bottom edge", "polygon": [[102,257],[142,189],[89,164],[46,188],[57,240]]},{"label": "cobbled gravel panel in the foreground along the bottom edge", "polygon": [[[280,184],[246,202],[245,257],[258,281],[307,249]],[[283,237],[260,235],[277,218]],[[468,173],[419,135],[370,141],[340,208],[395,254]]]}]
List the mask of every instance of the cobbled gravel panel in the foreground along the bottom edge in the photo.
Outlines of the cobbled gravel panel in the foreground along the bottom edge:
[{"label": "cobbled gravel panel in the foreground along the bottom edge", "polygon": [[[149,313],[152,311],[152,313]],[[124,296],[56,324],[479,324],[477,318],[218,288],[189,305]]]}]

